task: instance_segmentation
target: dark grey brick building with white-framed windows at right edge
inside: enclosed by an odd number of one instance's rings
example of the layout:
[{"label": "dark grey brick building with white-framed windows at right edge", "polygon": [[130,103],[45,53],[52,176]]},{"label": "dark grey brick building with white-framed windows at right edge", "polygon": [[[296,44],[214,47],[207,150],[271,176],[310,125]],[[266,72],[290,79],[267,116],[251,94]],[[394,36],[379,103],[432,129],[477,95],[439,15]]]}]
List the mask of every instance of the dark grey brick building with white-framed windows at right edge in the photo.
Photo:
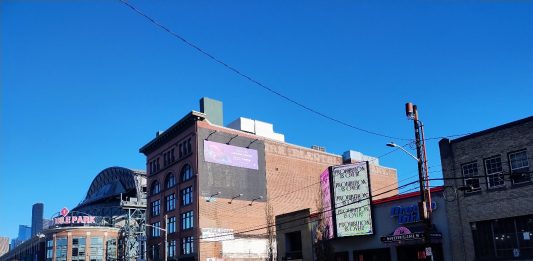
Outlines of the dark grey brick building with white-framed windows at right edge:
[{"label": "dark grey brick building with white-framed windows at right edge", "polygon": [[533,117],[439,145],[453,259],[533,259]]}]

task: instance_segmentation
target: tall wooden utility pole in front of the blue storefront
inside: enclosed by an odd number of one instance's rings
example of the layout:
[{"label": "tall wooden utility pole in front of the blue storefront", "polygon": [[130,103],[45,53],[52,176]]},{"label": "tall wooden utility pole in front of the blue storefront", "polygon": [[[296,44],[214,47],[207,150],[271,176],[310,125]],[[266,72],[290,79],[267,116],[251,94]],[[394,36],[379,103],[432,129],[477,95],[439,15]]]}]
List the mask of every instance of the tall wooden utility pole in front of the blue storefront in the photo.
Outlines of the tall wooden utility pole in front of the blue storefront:
[{"label": "tall wooden utility pole in front of the blue storefront", "polygon": [[[415,128],[416,156],[418,158],[418,181],[420,185],[420,202],[418,204],[420,219],[425,223],[424,226],[424,251],[430,254],[433,260],[431,250],[431,194],[429,187],[429,177],[427,170],[426,143],[424,139],[424,124],[418,119],[417,106],[408,102],[405,104],[405,114],[407,118],[413,120]],[[425,182],[424,182],[425,180]],[[424,184],[425,183],[425,184]],[[427,258],[427,257],[426,257]]]}]

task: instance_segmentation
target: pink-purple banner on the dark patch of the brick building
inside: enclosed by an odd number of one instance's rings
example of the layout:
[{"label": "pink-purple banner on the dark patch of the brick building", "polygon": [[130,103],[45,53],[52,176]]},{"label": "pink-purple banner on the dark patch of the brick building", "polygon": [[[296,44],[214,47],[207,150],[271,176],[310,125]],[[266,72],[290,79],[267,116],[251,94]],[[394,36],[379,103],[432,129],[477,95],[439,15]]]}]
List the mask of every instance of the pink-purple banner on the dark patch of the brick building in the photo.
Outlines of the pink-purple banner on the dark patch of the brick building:
[{"label": "pink-purple banner on the dark patch of the brick building", "polygon": [[259,169],[257,150],[204,141],[204,159],[207,162],[228,166]]}]

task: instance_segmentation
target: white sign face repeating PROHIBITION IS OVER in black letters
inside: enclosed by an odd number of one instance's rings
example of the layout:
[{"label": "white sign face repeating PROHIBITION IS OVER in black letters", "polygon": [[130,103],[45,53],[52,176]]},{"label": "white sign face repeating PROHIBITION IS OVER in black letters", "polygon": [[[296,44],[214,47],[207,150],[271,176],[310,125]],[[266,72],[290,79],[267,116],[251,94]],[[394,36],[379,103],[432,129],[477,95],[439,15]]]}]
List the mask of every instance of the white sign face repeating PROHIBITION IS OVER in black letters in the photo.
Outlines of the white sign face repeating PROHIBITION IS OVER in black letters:
[{"label": "white sign face repeating PROHIBITION IS OVER in black letters", "polygon": [[332,167],[331,177],[337,237],[373,234],[368,163]]}]

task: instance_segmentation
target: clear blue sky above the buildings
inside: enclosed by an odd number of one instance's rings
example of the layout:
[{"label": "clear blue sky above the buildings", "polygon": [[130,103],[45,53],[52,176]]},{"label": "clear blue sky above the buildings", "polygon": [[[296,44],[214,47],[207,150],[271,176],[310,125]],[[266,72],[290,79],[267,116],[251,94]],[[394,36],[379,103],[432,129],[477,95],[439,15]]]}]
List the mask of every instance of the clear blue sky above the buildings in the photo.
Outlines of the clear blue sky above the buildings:
[{"label": "clear blue sky above the buildings", "polygon": [[[139,1],[130,3],[267,86],[355,126],[428,137],[532,115],[530,1]],[[154,4],[155,3],[155,4]],[[2,1],[0,235],[80,202],[104,168],[143,169],[138,149],[202,96],[225,123],[274,124],[287,142],[378,156],[387,138],[258,88],[119,1]],[[428,142],[440,177],[437,141]],[[401,141],[397,141],[401,143]],[[416,174],[401,152],[381,159]]]}]

